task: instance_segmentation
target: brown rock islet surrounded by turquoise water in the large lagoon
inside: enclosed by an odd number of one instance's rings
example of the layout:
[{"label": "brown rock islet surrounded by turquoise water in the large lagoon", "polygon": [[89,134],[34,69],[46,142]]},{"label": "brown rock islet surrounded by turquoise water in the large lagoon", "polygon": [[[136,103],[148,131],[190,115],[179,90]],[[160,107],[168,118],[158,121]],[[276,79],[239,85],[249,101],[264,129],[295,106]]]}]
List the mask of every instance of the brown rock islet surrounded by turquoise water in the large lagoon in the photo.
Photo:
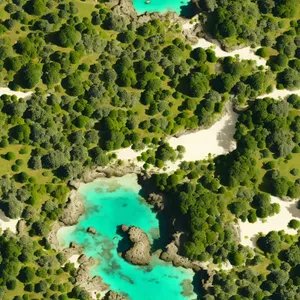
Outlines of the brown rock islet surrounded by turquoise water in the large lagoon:
[{"label": "brown rock islet surrounded by turquoise water in the large lagoon", "polygon": [[122,226],[122,230],[123,229],[127,229],[125,232],[128,234],[130,241],[133,243],[133,246],[123,253],[125,260],[133,265],[148,265],[151,260],[151,244],[147,234],[135,226],[131,226],[129,228]]}]

